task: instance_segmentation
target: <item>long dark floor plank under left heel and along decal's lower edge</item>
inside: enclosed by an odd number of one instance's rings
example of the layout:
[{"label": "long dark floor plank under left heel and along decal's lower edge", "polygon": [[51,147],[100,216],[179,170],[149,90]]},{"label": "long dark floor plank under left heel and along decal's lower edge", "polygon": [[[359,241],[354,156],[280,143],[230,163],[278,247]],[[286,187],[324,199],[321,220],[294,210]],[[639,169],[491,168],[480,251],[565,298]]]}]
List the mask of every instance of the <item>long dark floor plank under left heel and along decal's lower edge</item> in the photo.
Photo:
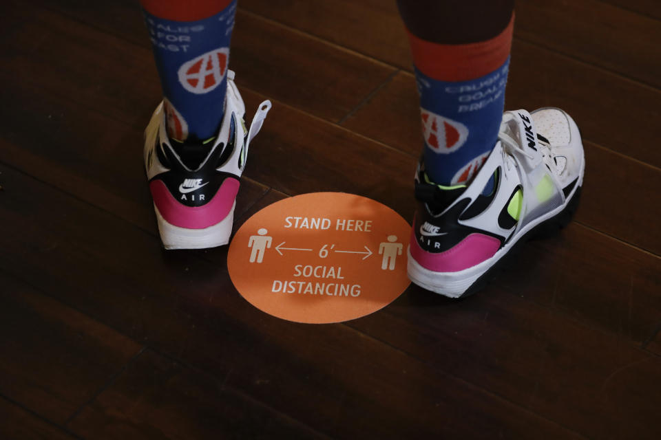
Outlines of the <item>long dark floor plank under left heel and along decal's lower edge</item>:
[{"label": "long dark floor plank under left heel and along decal's lower edge", "polygon": [[[13,170],[3,179],[21,193],[3,192],[0,215],[23,233],[0,236],[0,267],[21,278],[38,272],[33,282],[53,296],[315,430],[333,437],[576,437],[346,326],[266,316],[235,292],[224,264],[191,252],[158,254],[156,237],[131,223]],[[32,203],[37,195],[41,203]],[[44,211],[48,223],[36,215]],[[34,249],[45,237],[66,245]],[[85,270],[72,277],[65,267]]]}]

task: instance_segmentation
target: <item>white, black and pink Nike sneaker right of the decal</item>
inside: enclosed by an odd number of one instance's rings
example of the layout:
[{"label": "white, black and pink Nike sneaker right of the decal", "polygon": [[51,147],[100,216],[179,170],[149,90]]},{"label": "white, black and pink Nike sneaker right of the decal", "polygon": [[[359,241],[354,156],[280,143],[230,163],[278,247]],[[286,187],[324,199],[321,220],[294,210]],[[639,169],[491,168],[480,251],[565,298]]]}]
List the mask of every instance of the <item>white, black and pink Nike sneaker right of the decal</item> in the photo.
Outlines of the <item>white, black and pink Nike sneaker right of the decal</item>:
[{"label": "white, black and pink Nike sneaker right of the decal", "polygon": [[419,166],[409,278],[450,298],[481,289],[518,244],[569,222],[584,170],[580,133],[567,113],[505,112],[499,141],[468,186],[436,185]]}]

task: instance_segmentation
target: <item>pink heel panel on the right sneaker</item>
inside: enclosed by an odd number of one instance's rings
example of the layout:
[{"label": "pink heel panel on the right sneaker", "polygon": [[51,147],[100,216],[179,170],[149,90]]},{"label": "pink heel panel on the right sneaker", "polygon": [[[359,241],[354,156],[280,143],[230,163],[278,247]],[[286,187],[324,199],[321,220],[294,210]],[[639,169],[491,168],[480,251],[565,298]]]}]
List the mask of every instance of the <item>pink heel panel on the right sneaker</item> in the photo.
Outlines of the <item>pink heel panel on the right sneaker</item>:
[{"label": "pink heel panel on the right sneaker", "polygon": [[[414,223],[415,224],[415,223]],[[411,231],[411,256],[422,267],[434,272],[459,272],[490,259],[501,247],[501,241],[485,234],[470,234],[454,248],[434,254],[420,247],[415,230]]]}]

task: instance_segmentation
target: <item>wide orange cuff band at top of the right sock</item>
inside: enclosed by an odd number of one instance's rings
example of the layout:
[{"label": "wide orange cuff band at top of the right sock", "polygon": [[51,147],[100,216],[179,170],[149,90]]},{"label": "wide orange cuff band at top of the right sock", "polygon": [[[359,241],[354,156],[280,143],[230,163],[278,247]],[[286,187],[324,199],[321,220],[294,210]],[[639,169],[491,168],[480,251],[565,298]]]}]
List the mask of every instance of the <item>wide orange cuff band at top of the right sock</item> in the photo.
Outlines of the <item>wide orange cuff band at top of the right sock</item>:
[{"label": "wide orange cuff band at top of the right sock", "polygon": [[420,72],[435,80],[458,82],[480,78],[501,67],[510,56],[513,30],[514,13],[503,32],[479,43],[432,43],[407,32],[413,64]]}]

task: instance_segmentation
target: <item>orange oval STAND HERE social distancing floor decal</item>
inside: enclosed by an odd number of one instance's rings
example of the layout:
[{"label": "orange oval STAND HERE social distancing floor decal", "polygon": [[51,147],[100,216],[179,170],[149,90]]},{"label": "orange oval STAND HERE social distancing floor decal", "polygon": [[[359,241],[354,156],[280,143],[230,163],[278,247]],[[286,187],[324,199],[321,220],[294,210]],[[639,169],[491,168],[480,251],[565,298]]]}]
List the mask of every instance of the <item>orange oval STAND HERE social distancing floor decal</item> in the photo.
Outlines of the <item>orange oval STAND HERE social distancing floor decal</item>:
[{"label": "orange oval STAND HERE social distancing floor decal", "polygon": [[315,192],[248,219],[227,256],[236,289],[286,320],[342,322],[390,304],[408,287],[410,225],[377,201]]}]

